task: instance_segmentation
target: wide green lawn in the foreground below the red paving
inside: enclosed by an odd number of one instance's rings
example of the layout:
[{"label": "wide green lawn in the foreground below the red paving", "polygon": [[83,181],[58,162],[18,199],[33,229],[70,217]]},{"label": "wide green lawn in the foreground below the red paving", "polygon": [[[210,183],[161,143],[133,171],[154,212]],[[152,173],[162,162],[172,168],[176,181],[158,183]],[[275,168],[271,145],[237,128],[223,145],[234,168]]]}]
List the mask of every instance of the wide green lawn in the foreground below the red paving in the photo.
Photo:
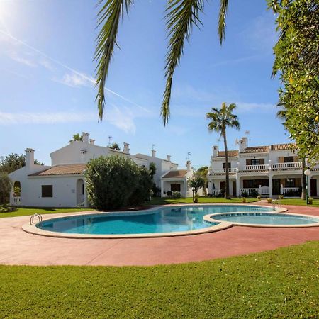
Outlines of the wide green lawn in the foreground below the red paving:
[{"label": "wide green lawn in the foreground below the red paving", "polygon": [[156,267],[0,266],[1,318],[318,318],[319,242]]}]

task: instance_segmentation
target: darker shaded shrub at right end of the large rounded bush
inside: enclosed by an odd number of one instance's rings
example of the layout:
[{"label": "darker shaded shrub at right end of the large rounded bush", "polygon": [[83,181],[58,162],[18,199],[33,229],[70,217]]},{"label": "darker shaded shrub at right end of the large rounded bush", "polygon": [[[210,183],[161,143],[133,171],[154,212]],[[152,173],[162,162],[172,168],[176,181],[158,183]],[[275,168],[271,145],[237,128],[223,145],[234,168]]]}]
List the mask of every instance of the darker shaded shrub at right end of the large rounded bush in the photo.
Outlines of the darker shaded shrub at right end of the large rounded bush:
[{"label": "darker shaded shrub at right end of the large rounded bush", "polygon": [[141,203],[150,200],[150,192],[152,191],[153,184],[150,171],[145,167],[138,167],[138,172],[138,186],[134,189],[128,199],[129,205],[140,205]]}]

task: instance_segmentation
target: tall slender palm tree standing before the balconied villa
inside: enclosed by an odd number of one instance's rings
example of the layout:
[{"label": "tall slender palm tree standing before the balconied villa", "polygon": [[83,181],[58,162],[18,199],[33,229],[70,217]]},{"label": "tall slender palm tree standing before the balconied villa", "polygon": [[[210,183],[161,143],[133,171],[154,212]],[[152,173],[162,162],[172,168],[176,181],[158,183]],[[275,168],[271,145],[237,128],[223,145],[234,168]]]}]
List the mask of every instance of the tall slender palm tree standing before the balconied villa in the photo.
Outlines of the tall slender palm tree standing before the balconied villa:
[{"label": "tall slender palm tree standing before the balconied villa", "polygon": [[211,122],[208,123],[208,130],[210,132],[219,132],[220,137],[223,136],[224,147],[225,147],[225,172],[226,172],[226,185],[225,185],[225,198],[229,196],[229,167],[228,167],[228,149],[227,149],[227,138],[226,128],[237,128],[240,129],[240,123],[238,122],[237,116],[233,114],[236,108],[236,104],[232,103],[229,106],[225,102],[222,103],[220,109],[211,108],[211,112],[206,114],[206,118]]}]

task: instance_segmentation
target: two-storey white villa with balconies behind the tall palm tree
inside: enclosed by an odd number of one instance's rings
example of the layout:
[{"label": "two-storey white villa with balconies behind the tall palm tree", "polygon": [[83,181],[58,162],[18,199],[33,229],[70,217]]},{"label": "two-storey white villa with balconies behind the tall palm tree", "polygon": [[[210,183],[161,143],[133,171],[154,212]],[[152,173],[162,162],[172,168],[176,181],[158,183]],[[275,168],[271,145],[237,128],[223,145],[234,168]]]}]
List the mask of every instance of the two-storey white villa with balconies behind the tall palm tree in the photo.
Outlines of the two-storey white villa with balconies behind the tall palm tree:
[{"label": "two-storey white villa with balconies behind the tall palm tree", "polygon": [[[230,196],[260,194],[264,197],[298,196],[301,189],[302,164],[294,144],[247,146],[242,138],[238,150],[228,150]],[[208,194],[225,189],[225,152],[213,146],[208,170]],[[319,166],[311,169],[308,194],[318,196]]]}]

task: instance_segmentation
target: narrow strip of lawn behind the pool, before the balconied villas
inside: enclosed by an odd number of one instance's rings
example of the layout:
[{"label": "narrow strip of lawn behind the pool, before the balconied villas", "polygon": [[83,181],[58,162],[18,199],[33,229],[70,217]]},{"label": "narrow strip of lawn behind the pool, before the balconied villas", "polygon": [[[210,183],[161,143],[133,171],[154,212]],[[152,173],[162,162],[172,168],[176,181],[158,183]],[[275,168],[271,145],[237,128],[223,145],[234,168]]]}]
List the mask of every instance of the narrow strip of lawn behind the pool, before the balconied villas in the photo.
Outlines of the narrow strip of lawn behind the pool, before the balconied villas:
[{"label": "narrow strip of lawn behind the pool, before the balconied villas", "polygon": [[[252,203],[254,201],[259,201],[257,198],[247,198],[247,203]],[[193,203],[193,198],[161,198],[161,197],[153,197],[152,201],[148,201],[145,205],[165,205],[165,204],[172,204],[172,203]],[[198,203],[242,203],[242,198],[232,198],[232,199],[225,199],[225,198],[214,198],[214,197],[199,197]]]}]

